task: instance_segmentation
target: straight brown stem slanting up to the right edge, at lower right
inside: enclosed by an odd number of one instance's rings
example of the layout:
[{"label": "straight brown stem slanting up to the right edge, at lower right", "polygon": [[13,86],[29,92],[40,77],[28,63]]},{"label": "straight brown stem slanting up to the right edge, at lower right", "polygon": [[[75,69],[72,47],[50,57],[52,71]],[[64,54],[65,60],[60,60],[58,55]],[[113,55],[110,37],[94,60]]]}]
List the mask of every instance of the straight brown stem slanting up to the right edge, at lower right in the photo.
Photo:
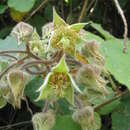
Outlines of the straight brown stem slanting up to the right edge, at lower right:
[{"label": "straight brown stem slanting up to the right edge, at lower right", "polygon": [[126,91],[124,91],[124,92],[120,92],[118,95],[116,95],[116,96],[113,97],[112,99],[110,99],[110,100],[108,100],[108,101],[105,101],[104,103],[102,103],[102,104],[100,104],[100,105],[95,106],[95,107],[94,107],[94,110],[97,111],[97,110],[101,109],[102,107],[104,107],[105,105],[110,104],[111,102],[113,102],[113,101],[115,101],[115,100],[121,98],[122,96],[124,96],[124,95],[126,95],[126,94],[128,94],[128,93],[129,93],[128,90],[126,90]]}]

